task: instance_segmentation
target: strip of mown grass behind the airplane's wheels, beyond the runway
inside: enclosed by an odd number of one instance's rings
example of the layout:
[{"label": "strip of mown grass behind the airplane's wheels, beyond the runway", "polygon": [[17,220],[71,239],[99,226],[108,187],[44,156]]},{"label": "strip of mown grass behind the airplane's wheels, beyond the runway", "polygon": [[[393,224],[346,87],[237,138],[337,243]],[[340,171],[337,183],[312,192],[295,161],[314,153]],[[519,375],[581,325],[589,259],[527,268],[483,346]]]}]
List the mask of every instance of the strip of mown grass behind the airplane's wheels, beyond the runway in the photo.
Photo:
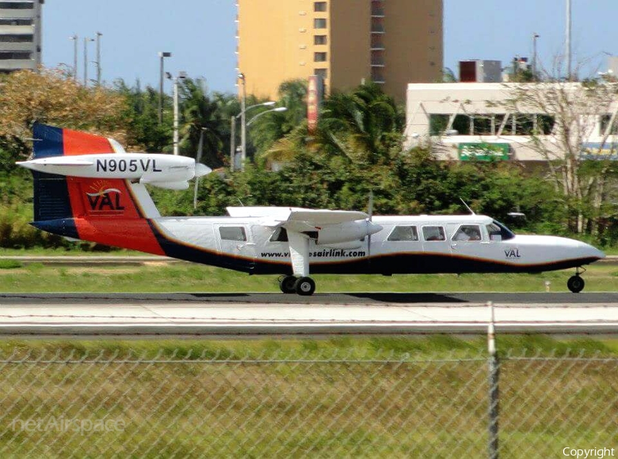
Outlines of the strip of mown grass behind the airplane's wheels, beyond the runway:
[{"label": "strip of mown grass behind the airplane's wheels, beyond the runway", "polygon": [[[567,291],[573,270],[542,274],[411,274],[341,276],[317,274],[327,292],[544,292]],[[584,275],[586,291],[618,291],[618,267],[597,263]],[[190,263],[148,262],[144,266],[55,267],[40,263],[0,269],[0,291],[34,292],[278,292],[277,276],[244,273]]]}]

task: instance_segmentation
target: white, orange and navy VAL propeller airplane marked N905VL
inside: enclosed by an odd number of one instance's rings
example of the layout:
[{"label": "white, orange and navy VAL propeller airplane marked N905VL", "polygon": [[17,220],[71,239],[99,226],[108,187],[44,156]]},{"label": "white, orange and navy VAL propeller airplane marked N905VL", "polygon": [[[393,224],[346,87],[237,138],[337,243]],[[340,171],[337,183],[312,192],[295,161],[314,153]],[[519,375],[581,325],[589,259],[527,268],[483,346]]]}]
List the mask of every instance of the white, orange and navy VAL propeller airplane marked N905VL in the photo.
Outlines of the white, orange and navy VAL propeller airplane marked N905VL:
[{"label": "white, orange and navy VAL propeller airplane marked N905VL", "polygon": [[[229,207],[227,216],[161,216],[146,184],[187,188],[209,169],[187,157],[126,153],[113,139],[34,124],[34,227],[71,240],[249,274],[279,274],[312,295],[310,273],[539,273],[604,258],[578,240],[514,234],[484,215],[372,216],[352,210]],[[122,166],[120,166],[122,164]],[[371,206],[370,206],[371,208]]]}]

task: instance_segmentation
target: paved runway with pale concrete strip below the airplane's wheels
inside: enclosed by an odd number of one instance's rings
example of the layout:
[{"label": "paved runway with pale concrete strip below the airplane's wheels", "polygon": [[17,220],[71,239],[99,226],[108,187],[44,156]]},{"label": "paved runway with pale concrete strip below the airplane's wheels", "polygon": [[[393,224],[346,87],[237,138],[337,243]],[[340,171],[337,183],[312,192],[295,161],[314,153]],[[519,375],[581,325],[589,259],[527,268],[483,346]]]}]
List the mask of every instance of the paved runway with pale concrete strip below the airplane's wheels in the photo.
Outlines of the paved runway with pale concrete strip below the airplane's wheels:
[{"label": "paved runway with pale concrete strip below the airplane's wheels", "polygon": [[618,333],[618,293],[0,295],[0,335]]}]

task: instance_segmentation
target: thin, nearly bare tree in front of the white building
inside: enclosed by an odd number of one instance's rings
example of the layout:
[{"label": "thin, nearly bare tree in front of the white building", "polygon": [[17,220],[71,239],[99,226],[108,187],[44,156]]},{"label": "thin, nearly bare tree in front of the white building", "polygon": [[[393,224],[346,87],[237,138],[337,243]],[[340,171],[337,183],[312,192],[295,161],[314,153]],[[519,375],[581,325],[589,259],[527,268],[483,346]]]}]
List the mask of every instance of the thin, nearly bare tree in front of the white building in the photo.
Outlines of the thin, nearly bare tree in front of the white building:
[{"label": "thin, nearly bare tree in front of the white building", "polygon": [[[604,203],[616,191],[616,166],[609,160],[612,155],[604,153],[616,154],[610,139],[618,125],[618,84],[548,79],[506,89],[510,93],[504,102],[507,111],[533,119],[549,115],[553,120],[549,134],[533,129],[528,146],[545,158],[551,180],[562,194],[571,232],[599,234]],[[597,132],[599,120],[605,123]]]}]

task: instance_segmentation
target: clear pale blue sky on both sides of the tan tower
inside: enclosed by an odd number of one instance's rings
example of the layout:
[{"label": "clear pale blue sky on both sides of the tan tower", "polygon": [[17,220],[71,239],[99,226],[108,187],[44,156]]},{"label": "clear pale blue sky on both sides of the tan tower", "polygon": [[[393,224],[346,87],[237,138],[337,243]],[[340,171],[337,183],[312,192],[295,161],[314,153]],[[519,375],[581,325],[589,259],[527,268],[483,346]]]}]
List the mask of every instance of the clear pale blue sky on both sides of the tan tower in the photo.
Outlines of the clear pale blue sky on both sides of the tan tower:
[{"label": "clear pale blue sky on both sides of the tan tower", "polygon": [[[260,1],[260,0],[253,0]],[[293,1],[293,0],[289,0]],[[332,0],[336,1],[336,0]],[[366,0],[358,0],[366,1]],[[43,63],[73,65],[79,36],[78,75],[83,78],[83,38],[101,32],[102,76],[128,84],[159,85],[158,52],[172,52],[165,71],[203,77],[212,91],[234,92],[236,82],[236,1],[234,0],[46,0],[43,5]],[[580,76],[605,71],[607,54],[618,55],[617,0],[572,0],[573,63]],[[502,60],[532,54],[551,69],[564,55],[565,0],[444,0],[444,67],[457,62]],[[89,43],[89,60],[95,60]],[[89,78],[95,66],[89,65]],[[170,91],[166,83],[165,90]]]}]

